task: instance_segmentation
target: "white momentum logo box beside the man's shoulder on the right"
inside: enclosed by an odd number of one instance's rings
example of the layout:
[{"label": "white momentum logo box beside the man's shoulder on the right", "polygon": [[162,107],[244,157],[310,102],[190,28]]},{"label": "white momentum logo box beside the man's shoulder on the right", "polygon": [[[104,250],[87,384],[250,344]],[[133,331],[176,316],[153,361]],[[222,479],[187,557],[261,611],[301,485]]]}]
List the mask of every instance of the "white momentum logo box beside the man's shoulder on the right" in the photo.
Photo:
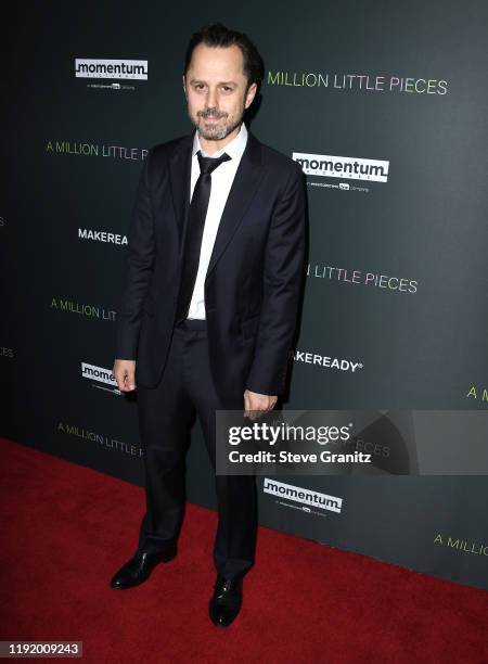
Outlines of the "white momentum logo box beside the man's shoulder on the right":
[{"label": "white momentum logo box beside the man's shoulder on the right", "polygon": [[292,156],[307,175],[372,182],[386,182],[388,180],[389,162],[332,156],[330,154],[307,154],[304,152],[294,152]]}]

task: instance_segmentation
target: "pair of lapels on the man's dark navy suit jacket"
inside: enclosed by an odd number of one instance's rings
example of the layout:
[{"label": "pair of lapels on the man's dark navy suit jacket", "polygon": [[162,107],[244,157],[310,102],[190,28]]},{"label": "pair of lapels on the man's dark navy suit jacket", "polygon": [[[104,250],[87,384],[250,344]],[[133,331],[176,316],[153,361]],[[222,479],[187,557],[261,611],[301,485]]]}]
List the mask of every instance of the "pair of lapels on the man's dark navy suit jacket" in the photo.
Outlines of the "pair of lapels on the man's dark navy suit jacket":
[{"label": "pair of lapels on the man's dark navy suit jacket", "polygon": [[[169,159],[169,179],[175,214],[178,220],[180,258],[182,238],[188,222],[190,206],[190,179],[192,166],[193,133],[178,143]],[[207,277],[222,255],[232,235],[237,230],[241,220],[249,206],[262,176],[260,142],[247,130],[247,143],[220,218],[215,239]]]}]

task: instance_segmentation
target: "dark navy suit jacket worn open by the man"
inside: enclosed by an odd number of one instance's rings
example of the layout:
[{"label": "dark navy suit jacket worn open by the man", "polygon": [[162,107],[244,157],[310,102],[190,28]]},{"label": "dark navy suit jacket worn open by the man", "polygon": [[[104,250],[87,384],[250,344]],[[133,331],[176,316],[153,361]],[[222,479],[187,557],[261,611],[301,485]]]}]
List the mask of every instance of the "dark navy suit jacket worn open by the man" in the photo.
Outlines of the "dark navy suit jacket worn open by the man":
[{"label": "dark navy suit jacket worn open by the man", "polygon": [[[167,358],[190,201],[193,132],[151,148],[128,232],[116,357],[154,387]],[[305,274],[305,181],[291,157],[248,131],[205,278],[209,359],[228,408],[285,390]]]}]

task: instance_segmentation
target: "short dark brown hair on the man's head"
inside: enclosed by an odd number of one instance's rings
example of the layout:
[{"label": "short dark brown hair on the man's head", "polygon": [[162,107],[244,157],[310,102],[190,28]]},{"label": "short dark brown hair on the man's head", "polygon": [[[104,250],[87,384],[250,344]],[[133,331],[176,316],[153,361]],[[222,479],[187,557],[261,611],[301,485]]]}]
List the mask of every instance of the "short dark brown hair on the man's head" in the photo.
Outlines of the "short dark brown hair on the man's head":
[{"label": "short dark brown hair on the man's head", "polygon": [[243,55],[244,74],[247,76],[247,88],[253,82],[256,82],[257,91],[259,91],[265,77],[265,65],[257,48],[254,46],[247,35],[237,33],[236,30],[230,30],[222,23],[210,23],[202,27],[190,38],[184,58],[184,75],[187,75],[190,67],[193,50],[200,43],[204,43],[208,47],[239,47]]}]

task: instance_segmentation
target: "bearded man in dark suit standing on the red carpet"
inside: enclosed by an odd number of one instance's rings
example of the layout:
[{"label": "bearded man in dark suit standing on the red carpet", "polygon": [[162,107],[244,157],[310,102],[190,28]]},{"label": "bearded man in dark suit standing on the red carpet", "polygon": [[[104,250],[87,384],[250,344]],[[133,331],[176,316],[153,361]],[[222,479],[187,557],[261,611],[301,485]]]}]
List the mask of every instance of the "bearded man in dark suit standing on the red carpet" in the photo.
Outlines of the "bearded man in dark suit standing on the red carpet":
[{"label": "bearded man in dark suit standing on the red carpet", "polygon": [[[216,468],[216,410],[254,419],[285,386],[305,255],[300,167],[243,123],[264,77],[243,34],[213,24],[193,35],[183,88],[195,131],[153,146],[129,229],[114,375],[138,390],[146,512],[134,556],[113,588],[145,580],[175,558],[184,458],[195,414]],[[216,474],[217,579],[211,621],[229,625],[254,564],[256,483]]]}]

